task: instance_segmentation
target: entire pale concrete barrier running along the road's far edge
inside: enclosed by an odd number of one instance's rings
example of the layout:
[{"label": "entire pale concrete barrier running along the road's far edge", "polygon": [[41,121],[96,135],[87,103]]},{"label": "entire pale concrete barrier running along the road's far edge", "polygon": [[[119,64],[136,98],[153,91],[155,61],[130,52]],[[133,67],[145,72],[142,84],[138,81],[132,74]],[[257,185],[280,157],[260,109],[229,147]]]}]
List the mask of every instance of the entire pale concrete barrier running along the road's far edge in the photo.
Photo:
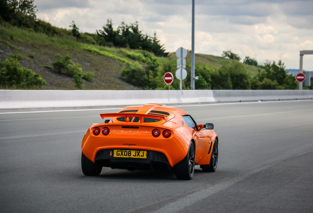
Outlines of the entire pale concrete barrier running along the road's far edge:
[{"label": "entire pale concrete barrier running along the road's far edge", "polygon": [[313,99],[313,90],[0,90],[0,109]]}]

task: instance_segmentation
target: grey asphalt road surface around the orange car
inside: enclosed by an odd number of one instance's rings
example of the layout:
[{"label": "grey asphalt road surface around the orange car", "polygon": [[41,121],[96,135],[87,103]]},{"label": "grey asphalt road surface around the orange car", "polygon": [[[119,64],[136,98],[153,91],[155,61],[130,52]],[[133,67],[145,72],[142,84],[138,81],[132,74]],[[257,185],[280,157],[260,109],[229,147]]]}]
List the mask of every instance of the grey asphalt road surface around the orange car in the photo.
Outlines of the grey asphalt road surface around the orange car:
[{"label": "grey asphalt road surface around the orange car", "polygon": [[216,173],[86,177],[83,135],[118,109],[0,113],[0,212],[313,212],[313,101],[178,107],[215,124]]}]

